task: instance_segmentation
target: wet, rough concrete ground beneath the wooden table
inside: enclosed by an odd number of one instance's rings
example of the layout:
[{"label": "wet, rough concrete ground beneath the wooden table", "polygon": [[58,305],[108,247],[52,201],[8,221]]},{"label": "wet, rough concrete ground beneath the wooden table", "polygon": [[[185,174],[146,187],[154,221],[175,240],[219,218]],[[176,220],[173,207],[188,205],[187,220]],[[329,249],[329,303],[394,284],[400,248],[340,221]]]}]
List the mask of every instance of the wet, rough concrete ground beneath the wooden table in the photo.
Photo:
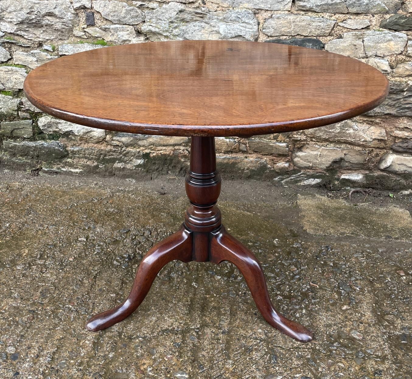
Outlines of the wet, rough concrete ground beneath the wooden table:
[{"label": "wet, rough concrete ground beneath the wooden table", "polygon": [[301,344],[266,324],[229,263],[169,263],[131,317],[88,332],[181,224],[183,178],[0,178],[2,379],[412,377],[412,194],[223,182],[226,228],[316,335]]}]

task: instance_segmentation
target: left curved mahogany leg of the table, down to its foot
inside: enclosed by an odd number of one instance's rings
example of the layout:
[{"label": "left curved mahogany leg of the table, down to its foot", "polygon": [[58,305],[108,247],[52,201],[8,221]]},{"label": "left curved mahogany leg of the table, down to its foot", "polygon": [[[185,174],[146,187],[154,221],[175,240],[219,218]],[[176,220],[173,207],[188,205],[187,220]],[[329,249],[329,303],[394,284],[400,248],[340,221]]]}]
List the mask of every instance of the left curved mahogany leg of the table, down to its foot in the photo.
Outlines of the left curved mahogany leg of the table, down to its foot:
[{"label": "left curved mahogany leg of the table, down to its foot", "polygon": [[102,330],[129,317],[146,297],[162,267],[176,259],[183,262],[192,260],[192,233],[184,226],[147,252],[140,263],[128,298],[121,305],[91,317],[86,329]]}]

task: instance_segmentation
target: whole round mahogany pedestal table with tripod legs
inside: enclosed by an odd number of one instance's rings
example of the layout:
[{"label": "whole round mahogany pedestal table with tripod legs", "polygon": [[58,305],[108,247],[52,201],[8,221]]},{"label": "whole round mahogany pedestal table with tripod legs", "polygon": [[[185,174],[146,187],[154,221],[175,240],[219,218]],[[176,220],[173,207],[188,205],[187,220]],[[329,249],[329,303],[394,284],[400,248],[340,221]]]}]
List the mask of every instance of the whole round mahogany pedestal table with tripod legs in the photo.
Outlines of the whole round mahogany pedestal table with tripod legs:
[{"label": "whole round mahogany pedestal table with tripod legs", "polygon": [[253,136],[328,125],[369,111],[388,93],[376,69],[315,49],[262,42],[173,41],[68,55],[34,69],[30,102],[63,120],[117,132],[190,136],[190,200],[180,230],[140,263],[121,305],[91,317],[102,330],[128,317],[168,262],[234,263],[265,320],[302,342],[313,334],[272,305],[252,252],[223,227],[215,136]]}]

